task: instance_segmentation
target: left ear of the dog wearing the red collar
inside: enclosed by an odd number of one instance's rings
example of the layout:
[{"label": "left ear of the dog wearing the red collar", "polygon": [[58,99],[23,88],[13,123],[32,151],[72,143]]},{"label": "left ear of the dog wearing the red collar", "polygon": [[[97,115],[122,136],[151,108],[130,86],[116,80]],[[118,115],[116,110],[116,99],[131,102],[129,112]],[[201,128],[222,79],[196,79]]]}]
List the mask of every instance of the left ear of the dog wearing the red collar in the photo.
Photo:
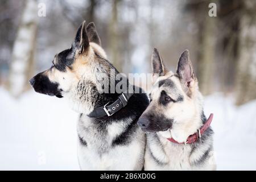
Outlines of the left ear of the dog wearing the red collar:
[{"label": "left ear of the dog wearing the red collar", "polygon": [[154,48],[151,56],[152,73],[164,76],[166,69],[164,68],[163,60],[158,52],[158,49]]}]

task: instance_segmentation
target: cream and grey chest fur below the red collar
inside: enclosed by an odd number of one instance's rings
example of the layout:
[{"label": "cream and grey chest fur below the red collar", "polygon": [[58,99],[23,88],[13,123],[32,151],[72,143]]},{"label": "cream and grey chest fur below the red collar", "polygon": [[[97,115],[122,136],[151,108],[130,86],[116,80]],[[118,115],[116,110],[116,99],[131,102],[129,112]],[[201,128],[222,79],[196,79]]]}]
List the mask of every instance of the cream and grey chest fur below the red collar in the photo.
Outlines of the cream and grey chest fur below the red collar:
[{"label": "cream and grey chest fur below the red collar", "polygon": [[213,170],[212,130],[193,144],[171,143],[160,134],[147,134],[146,170]]}]

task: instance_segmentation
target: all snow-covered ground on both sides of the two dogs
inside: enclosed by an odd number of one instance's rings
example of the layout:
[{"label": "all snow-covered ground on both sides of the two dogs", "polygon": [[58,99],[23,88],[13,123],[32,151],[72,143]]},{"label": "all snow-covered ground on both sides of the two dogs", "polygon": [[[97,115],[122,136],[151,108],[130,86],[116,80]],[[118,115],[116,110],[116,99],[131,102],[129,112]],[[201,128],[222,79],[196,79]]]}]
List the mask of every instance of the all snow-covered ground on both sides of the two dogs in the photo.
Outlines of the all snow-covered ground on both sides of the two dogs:
[{"label": "all snow-covered ground on both sides of the two dogs", "polygon": [[[256,170],[256,101],[236,107],[216,93],[205,98],[210,113],[217,169]],[[30,91],[14,100],[0,87],[0,169],[79,169],[77,117],[64,99]]]}]

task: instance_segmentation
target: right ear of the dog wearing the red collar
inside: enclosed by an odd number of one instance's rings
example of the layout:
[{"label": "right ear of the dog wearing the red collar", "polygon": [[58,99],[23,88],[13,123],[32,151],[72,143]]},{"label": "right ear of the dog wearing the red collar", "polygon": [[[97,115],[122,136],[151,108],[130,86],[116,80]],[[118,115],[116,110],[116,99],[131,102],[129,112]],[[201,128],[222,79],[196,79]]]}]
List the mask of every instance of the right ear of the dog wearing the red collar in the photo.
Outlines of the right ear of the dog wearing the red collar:
[{"label": "right ear of the dog wearing the red collar", "polygon": [[180,77],[181,82],[188,88],[196,81],[196,75],[193,72],[189,51],[187,49],[180,55],[176,73]]}]

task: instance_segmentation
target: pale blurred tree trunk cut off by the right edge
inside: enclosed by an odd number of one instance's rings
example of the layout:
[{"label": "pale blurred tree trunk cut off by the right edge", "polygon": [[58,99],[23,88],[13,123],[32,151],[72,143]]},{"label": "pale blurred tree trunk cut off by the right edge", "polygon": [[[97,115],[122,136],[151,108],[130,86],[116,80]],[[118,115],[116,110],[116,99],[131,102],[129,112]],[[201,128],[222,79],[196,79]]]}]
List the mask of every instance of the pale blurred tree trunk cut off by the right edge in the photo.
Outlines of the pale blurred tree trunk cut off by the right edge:
[{"label": "pale blurred tree trunk cut off by the right edge", "polygon": [[239,32],[236,104],[256,99],[256,2],[243,1]]}]

